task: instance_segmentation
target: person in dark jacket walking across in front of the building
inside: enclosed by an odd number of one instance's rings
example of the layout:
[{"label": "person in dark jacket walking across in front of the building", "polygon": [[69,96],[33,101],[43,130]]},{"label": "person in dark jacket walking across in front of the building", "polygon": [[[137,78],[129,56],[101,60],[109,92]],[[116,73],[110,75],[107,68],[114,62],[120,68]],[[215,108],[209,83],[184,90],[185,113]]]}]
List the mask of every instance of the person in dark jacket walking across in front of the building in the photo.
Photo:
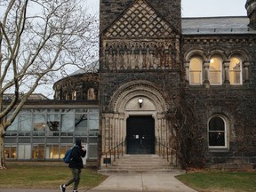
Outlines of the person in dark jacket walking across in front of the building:
[{"label": "person in dark jacket walking across in front of the building", "polygon": [[74,182],[73,192],[78,192],[77,188],[80,181],[82,168],[84,168],[82,157],[86,155],[86,150],[82,146],[82,140],[76,139],[76,146],[72,148],[72,159],[70,160],[68,167],[70,168],[73,178],[66,184],[60,185],[60,191],[65,192],[66,188]]}]

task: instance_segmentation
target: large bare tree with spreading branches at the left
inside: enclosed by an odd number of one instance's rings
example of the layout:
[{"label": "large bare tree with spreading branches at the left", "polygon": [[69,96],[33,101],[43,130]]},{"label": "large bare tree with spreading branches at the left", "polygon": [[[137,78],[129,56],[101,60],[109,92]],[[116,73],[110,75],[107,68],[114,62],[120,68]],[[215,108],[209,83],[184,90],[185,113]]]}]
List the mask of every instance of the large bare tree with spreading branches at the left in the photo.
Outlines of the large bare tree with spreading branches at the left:
[{"label": "large bare tree with spreading branches at the left", "polygon": [[[1,0],[0,168],[5,168],[4,132],[29,95],[49,84],[56,71],[84,68],[92,59],[98,20],[86,14],[83,2]],[[8,103],[6,92],[13,94]]]}]

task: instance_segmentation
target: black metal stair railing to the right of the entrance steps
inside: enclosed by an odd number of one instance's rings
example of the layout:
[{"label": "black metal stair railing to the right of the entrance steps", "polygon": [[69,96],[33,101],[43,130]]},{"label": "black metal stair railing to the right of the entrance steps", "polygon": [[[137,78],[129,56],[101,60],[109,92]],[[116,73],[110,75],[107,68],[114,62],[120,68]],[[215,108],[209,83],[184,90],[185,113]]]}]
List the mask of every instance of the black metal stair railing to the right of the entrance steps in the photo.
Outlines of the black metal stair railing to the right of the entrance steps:
[{"label": "black metal stair railing to the right of the entrance steps", "polygon": [[164,159],[166,158],[166,160],[170,162],[170,164],[173,164],[175,166],[178,165],[177,151],[174,148],[168,147],[165,141],[163,143],[160,142],[160,140],[156,139],[156,154],[159,156],[163,156]]}]

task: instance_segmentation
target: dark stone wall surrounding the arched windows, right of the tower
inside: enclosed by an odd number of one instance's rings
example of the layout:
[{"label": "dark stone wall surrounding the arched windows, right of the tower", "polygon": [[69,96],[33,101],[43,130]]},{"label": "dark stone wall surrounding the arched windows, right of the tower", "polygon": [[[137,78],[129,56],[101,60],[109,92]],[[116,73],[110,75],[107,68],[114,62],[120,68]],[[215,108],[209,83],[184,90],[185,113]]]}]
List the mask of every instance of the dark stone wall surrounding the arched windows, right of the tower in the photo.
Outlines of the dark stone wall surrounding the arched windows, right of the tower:
[{"label": "dark stone wall surrounding the arched windows, right of the tower", "polygon": [[[233,54],[239,52],[246,63],[245,66],[248,66],[243,68],[243,70],[248,69],[248,79],[243,79],[243,85],[210,85],[209,88],[203,85],[185,85],[184,100],[193,106],[199,117],[202,134],[206,138],[208,137],[207,124],[212,115],[220,114],[228,118],[228,148],[206,151],[206,164],[210,167],[212,164],[219,164],[214,167],[238,169],[239,162],[240,164],[256,163],[255,49],[256,42],[252,35],[185,36],[184,38],[184,63],[189,62],[187,56],[192,50],[203,52],[206,62],[210,60],[211,55],[218,52],[221,52],[221,56],[226,58],[225,62],[228,62]],[[208,146],[207,140],[205,145]]]}]

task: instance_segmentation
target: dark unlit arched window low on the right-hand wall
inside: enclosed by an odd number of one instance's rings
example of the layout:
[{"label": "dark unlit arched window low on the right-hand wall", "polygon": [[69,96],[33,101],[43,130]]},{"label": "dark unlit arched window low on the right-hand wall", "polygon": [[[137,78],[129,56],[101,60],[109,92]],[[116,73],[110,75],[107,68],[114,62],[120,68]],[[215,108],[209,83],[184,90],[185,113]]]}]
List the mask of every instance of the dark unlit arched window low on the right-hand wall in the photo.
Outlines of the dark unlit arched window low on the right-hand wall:
[{"label": "dark unlit arched window low on the right-hand wall", "polygon": [[221,116],[213,116],[208,123],[209,148],[227,148],[227,122]]}]

